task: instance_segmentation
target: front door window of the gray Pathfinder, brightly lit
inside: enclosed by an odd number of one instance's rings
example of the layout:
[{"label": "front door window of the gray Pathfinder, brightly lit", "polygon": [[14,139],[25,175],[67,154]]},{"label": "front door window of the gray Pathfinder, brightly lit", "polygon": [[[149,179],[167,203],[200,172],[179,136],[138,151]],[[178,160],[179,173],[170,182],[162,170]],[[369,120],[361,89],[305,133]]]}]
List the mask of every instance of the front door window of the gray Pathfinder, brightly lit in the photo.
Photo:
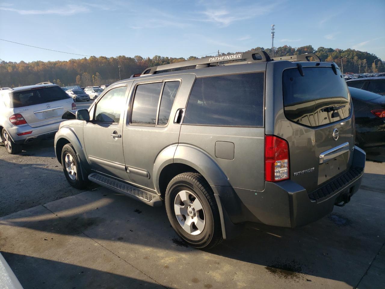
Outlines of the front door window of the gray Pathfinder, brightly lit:
[{"label": "front door window of the gray Pathfinder, brightly lit", "polygon": [[122,108],[126,104],[127,86],[116,87],[108,91],[96,104],[95,121],[119,123]]}]

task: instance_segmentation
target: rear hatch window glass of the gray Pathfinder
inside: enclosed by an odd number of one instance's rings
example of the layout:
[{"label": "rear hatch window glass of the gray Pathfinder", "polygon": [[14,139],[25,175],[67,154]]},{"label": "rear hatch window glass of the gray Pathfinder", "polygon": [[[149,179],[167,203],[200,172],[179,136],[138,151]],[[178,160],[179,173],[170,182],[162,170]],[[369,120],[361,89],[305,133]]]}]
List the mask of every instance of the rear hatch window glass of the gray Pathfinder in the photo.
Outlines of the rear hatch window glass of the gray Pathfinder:
[{"label": "rear hatch window glass of the gray Pathfinder", "polygon": [[350,116],[348,87],[337,70],[330,67],[303,67],[283,72],[285,116],[305,126],[321,126]]}]

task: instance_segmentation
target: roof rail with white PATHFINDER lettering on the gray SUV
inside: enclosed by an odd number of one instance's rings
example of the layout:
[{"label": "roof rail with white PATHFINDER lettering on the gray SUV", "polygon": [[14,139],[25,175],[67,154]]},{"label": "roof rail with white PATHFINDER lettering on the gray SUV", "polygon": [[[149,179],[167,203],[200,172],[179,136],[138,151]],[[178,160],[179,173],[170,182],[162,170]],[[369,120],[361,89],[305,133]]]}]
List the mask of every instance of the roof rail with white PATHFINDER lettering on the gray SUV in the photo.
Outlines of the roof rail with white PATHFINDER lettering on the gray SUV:
[{"label": "roof rail with white PATHFINDER lettering on the gray SUV", "polygon": [[[260,56],[259,56],[260,55]],[[159,66],[153,66],[146,68],[145,71],[142,72],[141,76],[155,74],[157,71],[181,68],[187,66],[206,66],[209,67],[212,63],[218,63],[223,61],[231,61],[231,60],[245,60],[243,63],[252,63],[252,62],[266,62],[271,61],[270,56],[263,50],[257,51],[249,51],[249,52],[240,52],[234,54],[226,54],[221,56],[210,56],[202,59],[195,60],[187,60],[182,62],[164,64]]]}]

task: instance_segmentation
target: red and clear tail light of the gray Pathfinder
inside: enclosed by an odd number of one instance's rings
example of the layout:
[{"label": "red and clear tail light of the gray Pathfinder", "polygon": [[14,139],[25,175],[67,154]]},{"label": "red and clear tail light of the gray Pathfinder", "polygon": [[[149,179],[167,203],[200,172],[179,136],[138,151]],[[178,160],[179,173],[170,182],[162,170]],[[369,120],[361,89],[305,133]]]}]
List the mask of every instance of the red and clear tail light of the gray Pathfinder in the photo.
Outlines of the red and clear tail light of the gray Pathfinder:
[{"label": "red and clear tail light of the gray Pathfinder", "polygon": [[289,177],[289,144],[278,136],[265,136],[265,180],[282,181]]}]

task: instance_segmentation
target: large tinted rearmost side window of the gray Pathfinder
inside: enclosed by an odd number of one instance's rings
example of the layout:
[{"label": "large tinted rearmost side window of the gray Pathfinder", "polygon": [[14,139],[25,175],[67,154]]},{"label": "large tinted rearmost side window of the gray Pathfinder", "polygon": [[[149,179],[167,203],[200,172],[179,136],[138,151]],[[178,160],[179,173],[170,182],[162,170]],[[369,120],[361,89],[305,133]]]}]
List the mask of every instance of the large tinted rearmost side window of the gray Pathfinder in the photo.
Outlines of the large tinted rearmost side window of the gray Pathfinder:
[{"label": "large tinted rearmost side window of the gray Pathfinder", "polygon": [[264,73],[197,78],[183,124],[263,126]]}]

